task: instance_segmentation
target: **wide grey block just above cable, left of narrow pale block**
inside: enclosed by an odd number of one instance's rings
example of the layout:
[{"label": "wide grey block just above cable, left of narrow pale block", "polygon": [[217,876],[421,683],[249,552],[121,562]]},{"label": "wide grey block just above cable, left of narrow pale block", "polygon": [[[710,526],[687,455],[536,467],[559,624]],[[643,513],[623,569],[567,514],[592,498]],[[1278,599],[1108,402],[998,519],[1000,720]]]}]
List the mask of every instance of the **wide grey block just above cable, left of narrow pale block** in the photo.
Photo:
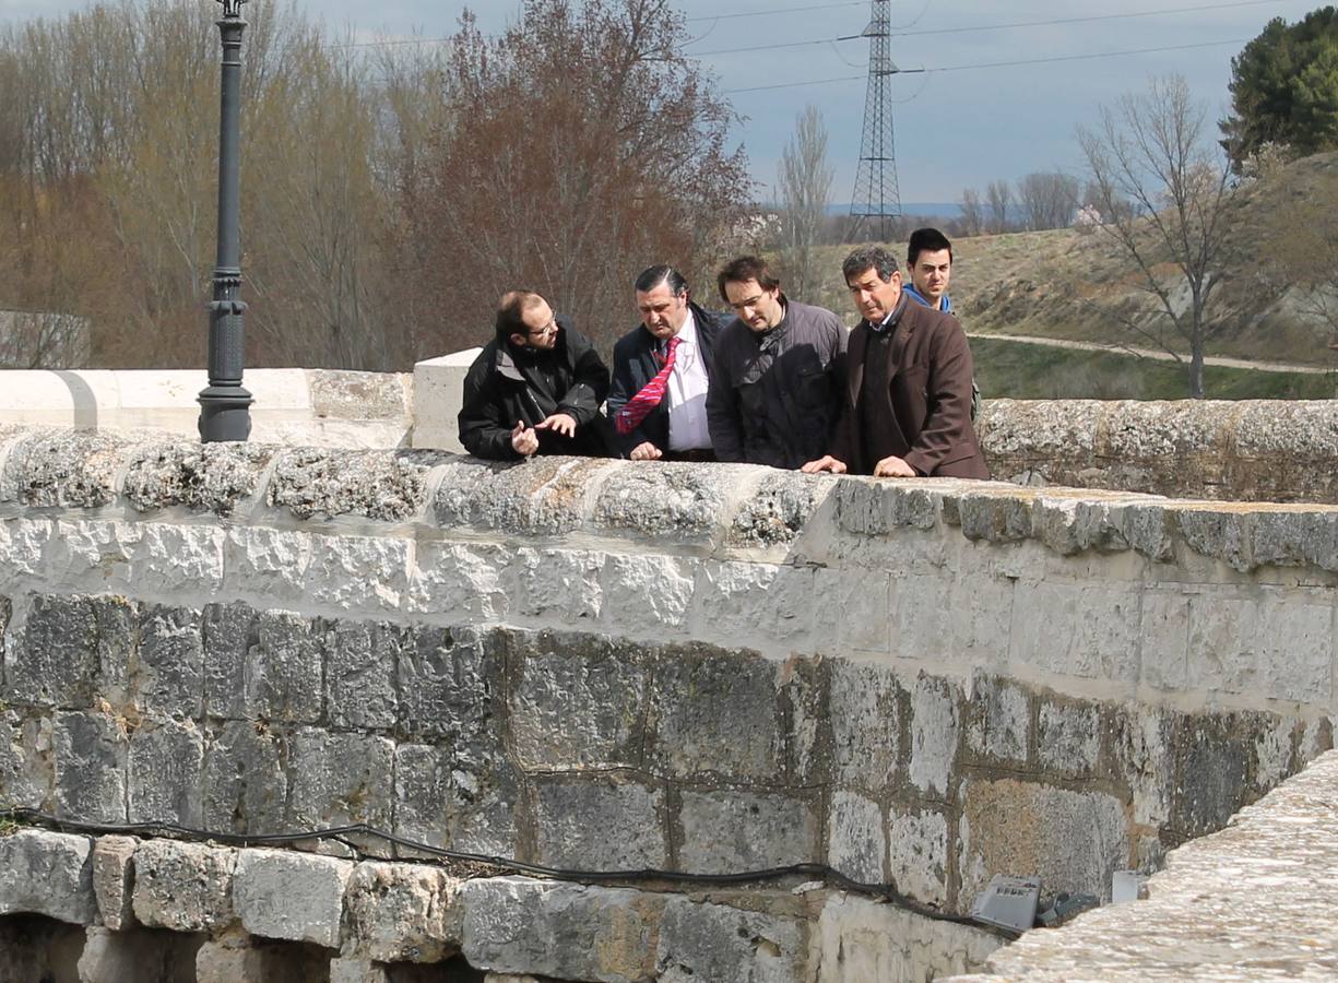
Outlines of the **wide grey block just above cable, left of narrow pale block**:
[{"label": "wide grey block just above cable, left of narrow pale block", "polygon": [[811,802],[767,792],[682,792],[678,865],[737,873],[812,863],[819,818]]}]

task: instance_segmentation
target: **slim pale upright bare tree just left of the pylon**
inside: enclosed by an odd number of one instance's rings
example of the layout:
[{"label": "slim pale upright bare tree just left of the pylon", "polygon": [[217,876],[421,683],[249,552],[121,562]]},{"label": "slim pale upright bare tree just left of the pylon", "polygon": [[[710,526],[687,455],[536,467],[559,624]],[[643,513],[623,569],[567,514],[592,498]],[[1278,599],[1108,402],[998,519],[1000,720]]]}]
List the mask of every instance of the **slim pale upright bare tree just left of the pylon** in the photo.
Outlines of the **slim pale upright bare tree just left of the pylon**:
[{"label": "slim pale upright bare tree just left of the pylon", "polygon": [[827,217],[835,171],[827,162],[827,127],[816,106],[795,120],[795,134],[780,155],[783,266],[789,289],[807,297],[822,282],[814,247]]}]

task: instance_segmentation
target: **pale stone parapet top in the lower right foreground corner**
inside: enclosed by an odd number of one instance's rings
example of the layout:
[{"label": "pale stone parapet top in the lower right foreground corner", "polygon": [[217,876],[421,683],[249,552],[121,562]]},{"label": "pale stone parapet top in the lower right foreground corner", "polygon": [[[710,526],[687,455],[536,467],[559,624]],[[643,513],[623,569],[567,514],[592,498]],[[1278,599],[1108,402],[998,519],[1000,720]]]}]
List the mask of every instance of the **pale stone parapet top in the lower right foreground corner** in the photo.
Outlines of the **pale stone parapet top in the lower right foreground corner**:
[{"label": "pale stone parapet top in the lower right foreground corner", "polygon": [[998,950],[959,983],[1338,978],[1338,753],[1171,852],[1147,897]]}]

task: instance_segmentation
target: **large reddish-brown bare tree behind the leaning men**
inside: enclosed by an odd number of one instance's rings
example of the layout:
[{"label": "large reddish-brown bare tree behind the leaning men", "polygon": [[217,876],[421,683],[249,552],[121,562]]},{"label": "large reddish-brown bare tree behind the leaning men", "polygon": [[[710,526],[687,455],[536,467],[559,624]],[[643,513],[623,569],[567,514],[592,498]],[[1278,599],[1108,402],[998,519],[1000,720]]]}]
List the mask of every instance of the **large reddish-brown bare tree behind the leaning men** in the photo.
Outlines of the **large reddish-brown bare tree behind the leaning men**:
[{"label": "large reddish-brown bare tree behind the leaning men", "polygon": [[526,0],[494,39],[463,20],[455,122],[404,182],[439,350],[479,344],[516,286],[611,341],[644,266],[719,258],[752,185],[727,147],[733,112],[684,39],[668,0]]}]

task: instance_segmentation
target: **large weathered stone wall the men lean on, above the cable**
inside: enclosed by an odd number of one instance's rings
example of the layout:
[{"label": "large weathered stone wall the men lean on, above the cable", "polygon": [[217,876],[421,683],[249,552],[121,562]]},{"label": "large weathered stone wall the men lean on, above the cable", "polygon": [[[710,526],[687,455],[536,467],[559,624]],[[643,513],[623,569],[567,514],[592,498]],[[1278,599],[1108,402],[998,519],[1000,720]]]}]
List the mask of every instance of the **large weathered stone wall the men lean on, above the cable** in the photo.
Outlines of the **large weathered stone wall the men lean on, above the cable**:
[{"label": "large weathered stone wall the men lean on, above the cable", "polygon": [[1333,742],[1327,507],[87,433],[0,457],[0,796],[64,818],[823,861],[963,911],[998,872],[1108,892]]}]

